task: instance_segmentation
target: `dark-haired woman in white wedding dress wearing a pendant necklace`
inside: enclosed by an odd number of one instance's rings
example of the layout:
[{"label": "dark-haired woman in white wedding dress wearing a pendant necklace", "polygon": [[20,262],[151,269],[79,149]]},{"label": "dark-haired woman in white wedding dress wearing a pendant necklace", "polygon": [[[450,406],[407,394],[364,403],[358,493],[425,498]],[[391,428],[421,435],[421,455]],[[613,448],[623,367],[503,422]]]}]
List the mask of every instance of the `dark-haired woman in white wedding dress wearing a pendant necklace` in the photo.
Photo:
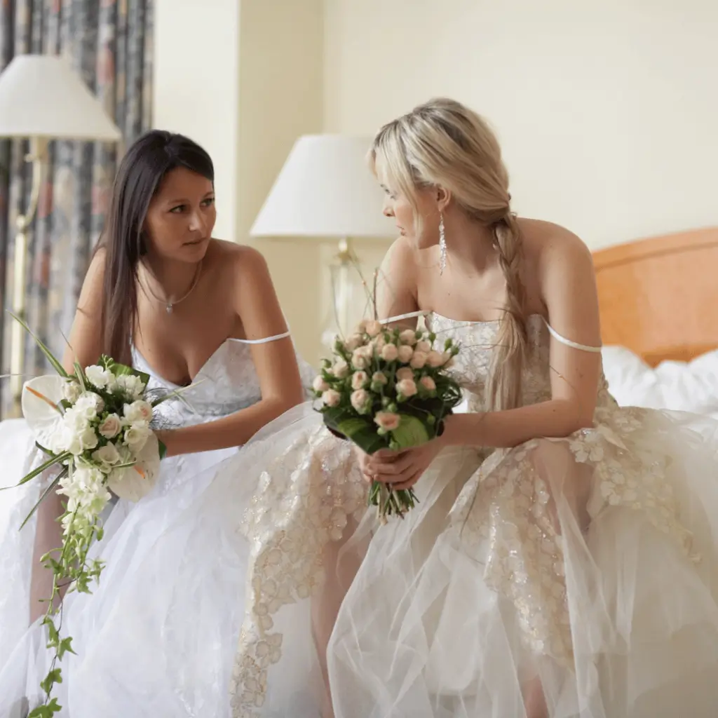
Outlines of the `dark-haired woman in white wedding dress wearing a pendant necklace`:
[{"label": "dark-haired woman in white wedding dress wearing a pendant necklace", "polygon": [[[108,354],[148,373],[151,386],[185,388],[185,401],[161,407],[169,458],[157,485],[138,503],[120,500],[109,511],[105,538],[93,551],[106,561],[101,584],[93,595],[65,598],[62,633],[73,636],[78,655],[62,662],[65,680],[56,691],[62,716],[137,715],[134,704],[113,702],[111,682],[103,686],[96,679],[113,654],[116,639],[105,636],[110,627],[121,627],[136,646],[136,675],[114,686],[118,696],[134,696],[147,715],[157,717],[220,715],[226,703],[225,672],[237,641],[233,612],[244,574],[236,553],[223,563],[215,546],[197,566],[192,585],[177,585],[178,567],[168,561],[166,572],[154,577],[156,586],[121,601],[133,568],[206,487],[210,467],[303,398],[292,339],[264,259],[252,248],[213,239],[215,218],[213,163],[200,146],[164,131],[151,131],[131,146],[85,277],[65,365],[71,368],[75,359],[92,365]],[[22,426],[13,430],[16,446],[17,432],[29,439]],[[17,478],[22,468],[16,468]],[[5,472],[1,484],[17,478]],[[15,491],[14,498],[6,493],[0,510],[1,718],[22,716],[41,699],[48,653],[37,619],[52,576],[39,557],[61,541],[60,496],[45,500],[37,520],[18,532],[39,482]],[[177,561],[183,556],[187,551],[180,548]],[[129,610],[135,598],[137,610]],[[177,610],[185,609],[177,623]],[[144,692],[142,656],[150,654],[154,668],[163,662],[165,694],[157,685]],[[96,712],[97,695],[109,701],[110,712]]]}]

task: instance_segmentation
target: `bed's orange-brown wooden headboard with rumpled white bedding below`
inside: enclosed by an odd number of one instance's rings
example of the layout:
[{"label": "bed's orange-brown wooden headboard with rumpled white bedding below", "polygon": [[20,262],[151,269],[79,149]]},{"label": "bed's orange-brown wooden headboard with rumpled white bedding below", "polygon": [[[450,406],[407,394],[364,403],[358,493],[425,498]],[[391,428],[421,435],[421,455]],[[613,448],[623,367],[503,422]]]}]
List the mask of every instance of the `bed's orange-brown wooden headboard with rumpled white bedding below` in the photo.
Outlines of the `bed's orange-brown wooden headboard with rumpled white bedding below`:
[{"label": "bed's orange-brown wooden headboard with rumpled white bedding below", "polygon": [[718,416],[718,228],[593,257],[604,370],[619,404]]}]

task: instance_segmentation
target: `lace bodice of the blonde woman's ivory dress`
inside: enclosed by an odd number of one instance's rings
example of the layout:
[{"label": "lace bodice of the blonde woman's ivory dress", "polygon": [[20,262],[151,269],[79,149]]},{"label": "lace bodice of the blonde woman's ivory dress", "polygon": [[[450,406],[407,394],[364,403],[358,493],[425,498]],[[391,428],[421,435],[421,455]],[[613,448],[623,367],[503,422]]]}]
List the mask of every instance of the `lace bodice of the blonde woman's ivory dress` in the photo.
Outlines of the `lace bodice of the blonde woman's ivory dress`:
[{"label": "lace bodice of the blonde woman's ivory dress", "polygon": [[[436,332],[437,337],[442,340],[451,337],[460,345],[460,352],[454,358],[451,372],[466,393],[467,409],[481,411],[498,322],[460,322],[435,313],[428,314],[425,321],[427,327]],[[523,370],[524,405],[538,404],[551,398],[549,332],[548,325],[539,314],[528,317],[528,341],[531,352]],[[603,373],[599,379],[597,398],[597,409],[615,406],[615,401],[608,393],[608,383]]]}]

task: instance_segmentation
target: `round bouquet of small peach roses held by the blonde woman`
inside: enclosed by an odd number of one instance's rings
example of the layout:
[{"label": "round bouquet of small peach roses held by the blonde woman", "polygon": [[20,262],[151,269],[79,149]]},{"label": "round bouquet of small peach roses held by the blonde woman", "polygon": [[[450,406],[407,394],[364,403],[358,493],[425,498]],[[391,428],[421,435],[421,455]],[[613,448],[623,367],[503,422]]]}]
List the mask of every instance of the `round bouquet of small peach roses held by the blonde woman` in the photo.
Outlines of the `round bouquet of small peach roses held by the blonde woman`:
[{"label": "round bouquet of small peach roses held by the blonde woman", "polygon": [[[361,322],[347,340],[337,339],[332,360],[322,362],[314,393],[325,425],[367,454],[399,451],[439,436],[443,419],[461,401],[461,390],[447,369],[457,345],[413,329],[388,329],[376,320]],[[392,490],[373,482],[370,505],[386,516],[414,508],[414,491]]]}]

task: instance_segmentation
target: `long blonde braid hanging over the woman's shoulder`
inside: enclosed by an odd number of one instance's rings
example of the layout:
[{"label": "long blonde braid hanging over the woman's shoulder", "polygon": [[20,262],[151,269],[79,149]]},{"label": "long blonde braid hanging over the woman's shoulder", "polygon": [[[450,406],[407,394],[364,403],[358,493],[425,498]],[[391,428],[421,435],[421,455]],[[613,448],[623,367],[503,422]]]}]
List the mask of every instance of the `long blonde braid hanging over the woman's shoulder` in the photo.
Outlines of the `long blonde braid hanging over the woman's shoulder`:
[{"label": "long blonde braid hanging over the woman's shoulder", "polygon": [[485,403],[488,411],[521,406],[521,374],[526,358],[526,288],[521,281],[521,231],[508,212],[495,225],[498,261],[506,281],[506,307],[499,322]]}]

